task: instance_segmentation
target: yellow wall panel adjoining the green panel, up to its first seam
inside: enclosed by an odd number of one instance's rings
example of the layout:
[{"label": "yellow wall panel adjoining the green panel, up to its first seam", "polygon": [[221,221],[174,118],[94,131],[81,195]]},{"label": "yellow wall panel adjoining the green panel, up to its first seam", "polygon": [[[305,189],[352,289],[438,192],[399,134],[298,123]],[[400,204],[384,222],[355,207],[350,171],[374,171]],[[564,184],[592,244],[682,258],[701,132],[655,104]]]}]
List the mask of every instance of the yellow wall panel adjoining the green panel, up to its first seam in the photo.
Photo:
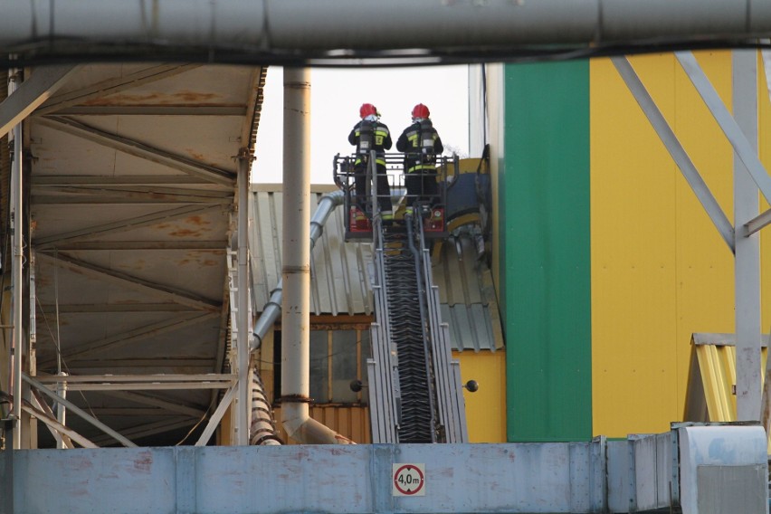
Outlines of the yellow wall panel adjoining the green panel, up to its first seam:
[{"label": "yellow wall panel adjoining the green panel, up to its first seam", "polygon": [[[662,59],[633,65],[672,119]],[[675,356],[675,168],[613,64],[593,61],[590,77],[593,431],[662,432],[674,411],[661,400],[674,385],[662,369]]]}]

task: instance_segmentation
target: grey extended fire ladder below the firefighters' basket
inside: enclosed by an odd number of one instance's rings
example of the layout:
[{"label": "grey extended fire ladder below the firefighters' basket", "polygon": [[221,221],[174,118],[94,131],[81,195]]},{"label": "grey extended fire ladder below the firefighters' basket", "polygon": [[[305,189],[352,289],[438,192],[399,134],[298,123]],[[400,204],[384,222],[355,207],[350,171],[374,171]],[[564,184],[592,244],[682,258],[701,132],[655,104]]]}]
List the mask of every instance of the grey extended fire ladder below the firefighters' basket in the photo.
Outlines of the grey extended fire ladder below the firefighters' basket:
[{"label": "grey extended fire ladder below the firefighters' basket", "polygon": [[460,366],[440,319],[423,223],[374,224],[376,323],[368,360],[373,443],[465,443]]}]

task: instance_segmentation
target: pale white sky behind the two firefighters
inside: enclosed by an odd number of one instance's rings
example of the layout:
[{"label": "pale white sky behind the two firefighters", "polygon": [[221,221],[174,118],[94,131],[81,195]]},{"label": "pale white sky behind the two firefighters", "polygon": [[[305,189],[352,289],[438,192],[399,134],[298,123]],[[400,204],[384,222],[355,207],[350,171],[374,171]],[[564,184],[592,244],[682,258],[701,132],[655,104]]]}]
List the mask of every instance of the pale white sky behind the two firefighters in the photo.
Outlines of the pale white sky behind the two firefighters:
[{"label": "pale white sky behind the two firefighters", "polygon": [[[394,139],[412,123],[415,104],[431,110],[449,155],[469,154],[468,67],[387,68],[366,70],[312,69],[310,72],[310,183],[332,184],[332,159],[353,153],[347,138],[358,122],[362,103],[380,111]],[[283,176],[283,71],[271,66],[265,80],[260,126],[257,129],[256,160],[252,182],[280,183]]]}]

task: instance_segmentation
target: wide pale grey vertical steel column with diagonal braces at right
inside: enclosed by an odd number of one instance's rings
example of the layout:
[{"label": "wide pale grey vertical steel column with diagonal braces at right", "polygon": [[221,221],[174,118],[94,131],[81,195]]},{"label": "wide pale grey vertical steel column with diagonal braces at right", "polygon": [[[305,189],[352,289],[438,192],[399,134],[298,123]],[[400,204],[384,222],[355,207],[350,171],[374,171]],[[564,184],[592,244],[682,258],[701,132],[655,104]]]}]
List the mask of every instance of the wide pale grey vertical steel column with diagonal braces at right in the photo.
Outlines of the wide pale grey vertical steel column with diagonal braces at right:
[{"label": "wide pale grey vertical steel column with diagonal braces at right", "polygon": [[[757,51],[733,52],[734,117],[757,153]],[[734,224],[744,226],[758,213],[758,189],[734,152]],[[760,234],[737,230],[736,330],[737,421],[760,419]]]}]

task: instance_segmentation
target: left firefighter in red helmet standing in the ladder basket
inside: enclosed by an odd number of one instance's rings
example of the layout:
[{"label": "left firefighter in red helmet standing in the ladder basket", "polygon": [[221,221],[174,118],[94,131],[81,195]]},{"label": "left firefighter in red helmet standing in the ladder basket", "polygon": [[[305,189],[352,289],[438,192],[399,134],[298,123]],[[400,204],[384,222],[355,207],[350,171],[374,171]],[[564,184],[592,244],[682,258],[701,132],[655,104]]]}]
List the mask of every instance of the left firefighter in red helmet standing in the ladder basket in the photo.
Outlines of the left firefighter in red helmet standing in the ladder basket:
[{"label": "left firefighter in red helmet standing in the ladder basket", "polygon": [[366,167],[369,163],[371,150],[376,151],[377,168],[377,205],[380,207],[381,219],[390,223],[394,219],[391,203],[391,188],[388,186],[386,174],[386,150],[391,148],[391,133],[385,123],[380,121],[380,113],[371,103],[362,104],[358,109],[361,117],[348,135],[348,142],[356,146],[356,162],[354,164],[354,181],[356,184],[356,204],[366,212],[366,205],[371,198],[366,198]]}]

